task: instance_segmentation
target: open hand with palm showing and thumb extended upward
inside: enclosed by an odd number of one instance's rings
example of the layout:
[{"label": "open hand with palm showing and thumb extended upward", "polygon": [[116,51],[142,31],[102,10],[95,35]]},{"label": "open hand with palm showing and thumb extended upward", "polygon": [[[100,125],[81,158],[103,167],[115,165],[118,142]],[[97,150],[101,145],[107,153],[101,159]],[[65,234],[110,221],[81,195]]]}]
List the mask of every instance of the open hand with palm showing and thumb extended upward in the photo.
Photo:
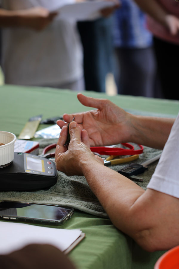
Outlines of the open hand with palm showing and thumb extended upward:
[{"label": "open hand with palm showing and thumb extended upward", "polygon": [[85,129],[89,136],[90,146],[107,146],[130,140],[130,123],[132,115],[119,108],[106,99],[77,95],[78,100],[84,105],[97,108],[95,110],[76,114],[64,114],[57,124],[62,128],[67,126],[75,116],[75,121]]}]

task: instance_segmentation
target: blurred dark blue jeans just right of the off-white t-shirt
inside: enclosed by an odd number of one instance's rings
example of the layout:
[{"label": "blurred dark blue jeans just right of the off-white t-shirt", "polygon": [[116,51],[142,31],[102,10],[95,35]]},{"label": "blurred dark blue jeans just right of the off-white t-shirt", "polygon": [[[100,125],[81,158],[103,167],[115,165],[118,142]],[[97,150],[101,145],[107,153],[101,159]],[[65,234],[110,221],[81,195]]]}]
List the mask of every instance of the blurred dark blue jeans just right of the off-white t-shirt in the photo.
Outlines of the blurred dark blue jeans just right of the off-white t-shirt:
[{"label": "blurred dark blue jeans just right of the off-white t-shirt", "polygon": [[78,22],[84,51],[86,91],[105,92],[107,73],[112,71],[112,18]]}]

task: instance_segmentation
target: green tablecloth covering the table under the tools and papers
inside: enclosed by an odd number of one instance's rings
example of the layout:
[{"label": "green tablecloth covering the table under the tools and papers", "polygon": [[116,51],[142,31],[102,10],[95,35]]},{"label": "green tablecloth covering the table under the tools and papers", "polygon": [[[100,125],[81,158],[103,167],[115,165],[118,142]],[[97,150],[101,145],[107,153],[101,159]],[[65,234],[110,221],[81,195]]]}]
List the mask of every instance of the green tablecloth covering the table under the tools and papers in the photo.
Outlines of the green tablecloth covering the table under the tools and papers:
[{"label": "green tablecloth covering the table under the tools and papers", "polygon": [[[95,92],[84,92],[97,98],[108,98],[128,111],[145,111],[146,114],[178,114],[179,102],[144,97],[115,96]],[[90,108],[91,109],[91,108]],[[43,119],[89,110],[82,106],[76,92],[50,88],[4,85],[0,87],[0,129],[20,133],[27,120],[38,114]],[[44,128],[47,126],[40,126]],[[1,197],[1,196],[0,196]],[[131,238],[118,231],[109,219],[99,218],[75,210],[74,216],[62,228],[80,228],[85,239],[69,254],[79,269],[148,269],[153,268],[162,251],[148,253]]]}]

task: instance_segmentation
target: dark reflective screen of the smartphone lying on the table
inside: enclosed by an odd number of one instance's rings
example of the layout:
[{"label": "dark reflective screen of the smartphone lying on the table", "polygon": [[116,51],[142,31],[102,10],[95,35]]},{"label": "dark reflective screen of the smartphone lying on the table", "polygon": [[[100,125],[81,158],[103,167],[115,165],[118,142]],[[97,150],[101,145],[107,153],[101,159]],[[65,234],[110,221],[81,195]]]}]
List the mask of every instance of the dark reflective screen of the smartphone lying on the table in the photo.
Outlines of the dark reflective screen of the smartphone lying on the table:
[{"label": "dark reflective screen of the smartphone lying on the table", "polygon": [[71,208],[41,204],[26,204],[7,201],[0,203],[0,215],[3,216],[60,220],[70,213],[71,210]]}]

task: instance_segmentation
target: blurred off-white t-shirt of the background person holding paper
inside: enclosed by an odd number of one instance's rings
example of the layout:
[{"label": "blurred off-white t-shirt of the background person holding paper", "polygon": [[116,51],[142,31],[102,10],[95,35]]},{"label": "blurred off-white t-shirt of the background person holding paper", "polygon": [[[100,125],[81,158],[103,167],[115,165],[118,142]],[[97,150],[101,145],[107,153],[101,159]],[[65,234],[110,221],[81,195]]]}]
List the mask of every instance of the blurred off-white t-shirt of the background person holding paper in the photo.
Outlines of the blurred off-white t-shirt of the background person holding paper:
[{"label": "blurred off-white t-shirt of the background person holding paper", "polygon": [[[55,10],[74,0],[0,0],[2,8],[35,6]],[[18,85],[58,85],[83,77],[83,57],[76,22],[54,20],[43,31],[6,28],[2,36],[5,82]]]}]

